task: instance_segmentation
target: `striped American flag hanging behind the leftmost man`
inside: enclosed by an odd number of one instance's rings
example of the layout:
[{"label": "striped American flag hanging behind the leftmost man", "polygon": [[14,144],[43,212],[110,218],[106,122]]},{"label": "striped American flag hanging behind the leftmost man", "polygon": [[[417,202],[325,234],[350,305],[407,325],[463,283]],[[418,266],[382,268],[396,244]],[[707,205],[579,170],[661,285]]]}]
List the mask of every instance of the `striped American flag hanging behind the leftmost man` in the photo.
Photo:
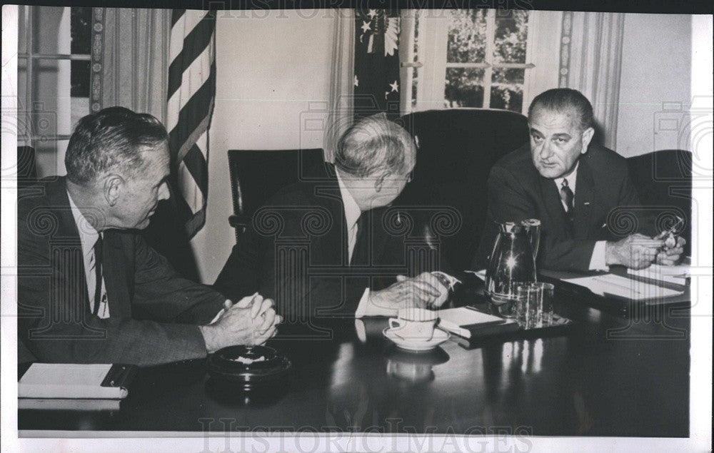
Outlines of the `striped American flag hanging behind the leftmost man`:
[{"label": "striped American flag hanging behind the leftmost man", "polygon": [[206,221],[208,124],[216,98],[216,17],[212,11],[174,9],[169,44],[167,124],[172,175],[186,234]]}]

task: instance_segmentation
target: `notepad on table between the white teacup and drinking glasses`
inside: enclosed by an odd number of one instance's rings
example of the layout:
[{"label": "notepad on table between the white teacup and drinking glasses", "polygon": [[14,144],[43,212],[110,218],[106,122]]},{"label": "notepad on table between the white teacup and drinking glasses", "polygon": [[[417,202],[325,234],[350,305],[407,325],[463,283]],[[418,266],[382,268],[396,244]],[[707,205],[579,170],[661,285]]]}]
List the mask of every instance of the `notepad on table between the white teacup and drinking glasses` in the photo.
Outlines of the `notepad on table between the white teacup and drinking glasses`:
[{"label": "notepad on table between the white teacup and drinking glasses", "polygon": [[439,310],[439,327],[460,337],[485,337],[518,330],[516,320],[488,315],[473,307]]}]

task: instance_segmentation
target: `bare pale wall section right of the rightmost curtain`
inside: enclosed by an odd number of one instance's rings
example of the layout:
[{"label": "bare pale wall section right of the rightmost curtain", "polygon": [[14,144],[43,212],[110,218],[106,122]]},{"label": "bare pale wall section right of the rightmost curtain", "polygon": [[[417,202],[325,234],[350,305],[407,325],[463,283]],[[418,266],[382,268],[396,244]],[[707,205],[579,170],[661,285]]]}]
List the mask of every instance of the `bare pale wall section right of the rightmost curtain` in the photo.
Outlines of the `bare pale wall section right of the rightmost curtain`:
[{"label": "bare pale wall section right of the rightmost curtain", "polygon": [[691,21],[689,15],[625,16],[616,147],[625,157],[690,149],[678,131],[663,130],[672,123],[660,118],[683,118],[679,111],[691,102]]}]

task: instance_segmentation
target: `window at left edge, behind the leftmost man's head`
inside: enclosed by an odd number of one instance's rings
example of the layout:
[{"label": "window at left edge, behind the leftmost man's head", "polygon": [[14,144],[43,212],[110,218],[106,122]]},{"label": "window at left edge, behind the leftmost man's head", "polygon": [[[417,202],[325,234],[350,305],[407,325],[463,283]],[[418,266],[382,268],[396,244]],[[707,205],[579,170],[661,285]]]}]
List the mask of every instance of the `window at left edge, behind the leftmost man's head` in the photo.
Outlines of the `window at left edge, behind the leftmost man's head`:
[{"label": "window at left edge, behind the leftmost man's head", "polygon": [[19,146],[31,146],[39,176],[64,173],[74,124],[89,113],[91,8],[20,6]]}]

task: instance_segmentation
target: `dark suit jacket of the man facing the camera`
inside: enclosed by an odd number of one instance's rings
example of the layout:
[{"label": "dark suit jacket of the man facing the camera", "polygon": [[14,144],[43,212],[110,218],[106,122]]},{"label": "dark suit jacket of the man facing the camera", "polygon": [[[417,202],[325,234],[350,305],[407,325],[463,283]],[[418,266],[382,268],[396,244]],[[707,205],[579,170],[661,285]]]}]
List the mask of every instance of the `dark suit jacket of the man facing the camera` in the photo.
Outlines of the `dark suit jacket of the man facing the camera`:
[{"label": "dark suit jacket of the man facing the camera", "polygon": [[488,176],[488,213],[474,267],[486,266],[497,223],[506,221],[540,219],[538,264],[553,270],[588,270],[596,241],[650,232],[625,158],[607,148],[590,144],[580,156],[574,205],[571,226],[553,179],[533,166],[530,146],[503,156]]}]

